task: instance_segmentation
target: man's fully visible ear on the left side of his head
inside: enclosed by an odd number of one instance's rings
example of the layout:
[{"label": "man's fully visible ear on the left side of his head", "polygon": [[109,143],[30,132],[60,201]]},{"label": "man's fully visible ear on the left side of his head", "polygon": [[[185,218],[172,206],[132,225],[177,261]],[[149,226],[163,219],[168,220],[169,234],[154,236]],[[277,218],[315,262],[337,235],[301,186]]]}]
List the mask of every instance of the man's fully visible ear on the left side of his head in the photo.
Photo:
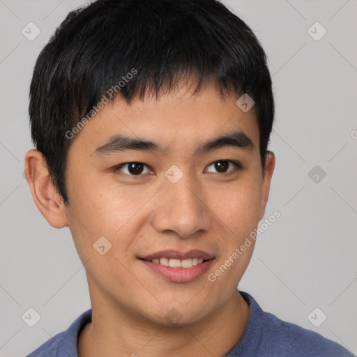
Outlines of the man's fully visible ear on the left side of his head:
[{"label": "man's fully visible ear on the left side of his head", "polygon": [[54,228],[67,226],[63,197],[54,187],[40,151],[32,149],[25,156],[25,176],[31,189],[33,202],[47,222]]}]

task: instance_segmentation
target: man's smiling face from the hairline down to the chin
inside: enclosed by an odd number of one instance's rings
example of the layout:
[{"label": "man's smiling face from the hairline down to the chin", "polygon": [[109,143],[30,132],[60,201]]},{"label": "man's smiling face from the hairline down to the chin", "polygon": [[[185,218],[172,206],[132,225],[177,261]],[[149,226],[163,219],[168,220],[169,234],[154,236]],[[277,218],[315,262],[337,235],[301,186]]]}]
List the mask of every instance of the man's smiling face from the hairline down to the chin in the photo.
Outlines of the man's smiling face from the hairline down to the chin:
[{"label": "man's smiling face from the hairline down to the chin", "polygon": [[[254,242],[215,281],[208,276],[257,227],[273,172],[271,153],[262,176],[255,112],[243,112],[236,99],[222,100],[213,86],[130,106],[118,99],[75,136],[63,215],[91,298],[158,324],[169,324],[173,311],[193,324],[236,292]],[[231,140],[217,140],[227,135]],[[151,144],[124,148],[123,137]],[[162,266],[165,258],[159,268],[143,260],[165,250],[207,256],[179,270]],[[195,264],[192,255],[181,264]]]}]

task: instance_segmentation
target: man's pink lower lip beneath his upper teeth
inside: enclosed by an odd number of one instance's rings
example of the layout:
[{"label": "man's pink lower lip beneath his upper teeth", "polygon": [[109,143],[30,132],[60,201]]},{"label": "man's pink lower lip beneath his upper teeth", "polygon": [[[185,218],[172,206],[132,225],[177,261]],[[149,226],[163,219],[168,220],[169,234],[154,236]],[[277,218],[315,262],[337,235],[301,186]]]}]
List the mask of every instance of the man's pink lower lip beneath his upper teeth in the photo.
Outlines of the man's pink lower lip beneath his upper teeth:
[{"label": "man's pink lower lip beneath his upper teeth", "polygon": [[171,282],[192,282],[208,271],[214,259],[206,260],[201,264],[192,266],[192,268],[172,268],[151,261],[141,260],[148,268],[155,273],[167,278]]}]

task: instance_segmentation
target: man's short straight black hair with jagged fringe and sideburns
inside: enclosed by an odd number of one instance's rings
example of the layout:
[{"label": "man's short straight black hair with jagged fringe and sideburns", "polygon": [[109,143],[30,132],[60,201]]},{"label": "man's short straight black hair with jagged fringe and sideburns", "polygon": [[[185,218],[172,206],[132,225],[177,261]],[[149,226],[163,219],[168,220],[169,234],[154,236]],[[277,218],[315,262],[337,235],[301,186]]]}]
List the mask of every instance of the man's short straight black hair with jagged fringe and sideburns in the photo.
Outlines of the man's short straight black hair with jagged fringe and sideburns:
[{"label": "man's short straight black hair with jagged fringe and sideburns", "polygon": [[215,84],[223,98],[248,93],[255,100],[264,173],[274,121],[266,54],[220,1],[97,0],[67,15],[38,56],[29,93],[33,143],[64,204],[66,133],[108,91],[108,100],[130,103],[158,98],[183,79],[194,79],[194,93]]}]

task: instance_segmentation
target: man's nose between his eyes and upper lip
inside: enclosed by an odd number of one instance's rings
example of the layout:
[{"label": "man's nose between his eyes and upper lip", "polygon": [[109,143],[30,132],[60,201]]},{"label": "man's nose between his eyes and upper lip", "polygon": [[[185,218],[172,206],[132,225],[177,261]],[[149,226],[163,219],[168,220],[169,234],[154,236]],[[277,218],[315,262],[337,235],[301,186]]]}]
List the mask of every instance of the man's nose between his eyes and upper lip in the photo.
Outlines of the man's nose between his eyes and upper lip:
[{"label": "man's nose between his eyes and upper lip", "polygon": [[[158,203],[151,224],[160,233],[174,231],[182,238],[211,229],[211,207],[205,202],[203,190],[189,174],[176,183],[166,180],[158,192]],[[202,233],[201,232],[201,233]]]}]

